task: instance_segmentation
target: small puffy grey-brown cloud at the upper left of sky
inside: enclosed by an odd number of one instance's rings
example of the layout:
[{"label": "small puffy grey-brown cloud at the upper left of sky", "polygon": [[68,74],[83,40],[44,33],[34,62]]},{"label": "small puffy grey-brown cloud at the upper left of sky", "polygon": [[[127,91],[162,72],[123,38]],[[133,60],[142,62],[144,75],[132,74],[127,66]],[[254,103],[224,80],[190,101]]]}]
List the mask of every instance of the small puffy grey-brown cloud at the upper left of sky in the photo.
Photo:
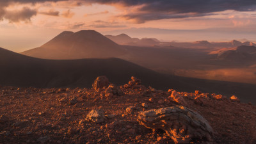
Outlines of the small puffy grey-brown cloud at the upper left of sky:
[{"label": "small puffy grey-brown cloud at the upper left of sky", "polygon": [[9,20],[9,22],[30,22],[31,17],[37,14],[36,10],[31,10],[28,7],[22,8],[22,10],[6,11],[3,18]]}]

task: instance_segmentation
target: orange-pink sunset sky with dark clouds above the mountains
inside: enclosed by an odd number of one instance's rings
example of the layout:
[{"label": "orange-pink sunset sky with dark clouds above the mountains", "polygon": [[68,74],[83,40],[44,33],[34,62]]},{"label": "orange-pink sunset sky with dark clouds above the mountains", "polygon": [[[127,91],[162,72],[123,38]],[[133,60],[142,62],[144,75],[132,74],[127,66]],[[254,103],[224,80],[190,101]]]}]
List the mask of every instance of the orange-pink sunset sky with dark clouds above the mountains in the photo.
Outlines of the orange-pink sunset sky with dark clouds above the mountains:
[{"label": "orange-pink sunset sky with dark clouds above the mountains", "polygon": [[22,52],[62,31],[163,41],[256,42],[255,0],[0,0],[0,47]]}]

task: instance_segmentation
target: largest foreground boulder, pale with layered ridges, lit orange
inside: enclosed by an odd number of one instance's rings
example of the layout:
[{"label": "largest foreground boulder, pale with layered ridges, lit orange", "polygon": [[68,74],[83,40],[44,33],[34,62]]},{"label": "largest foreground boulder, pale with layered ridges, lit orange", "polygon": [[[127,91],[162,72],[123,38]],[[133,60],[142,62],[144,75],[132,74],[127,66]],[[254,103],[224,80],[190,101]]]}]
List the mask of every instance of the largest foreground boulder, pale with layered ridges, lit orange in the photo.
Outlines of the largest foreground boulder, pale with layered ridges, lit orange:
[{"label": "largest foreground boulder, pale with layered ridges, lit orange", "polygon": [[168,107],[140,112],[138,122],[150,129],[162,129],[175,143],[192,139],[212,141],[212,127],[199,113],[191,109]]}]

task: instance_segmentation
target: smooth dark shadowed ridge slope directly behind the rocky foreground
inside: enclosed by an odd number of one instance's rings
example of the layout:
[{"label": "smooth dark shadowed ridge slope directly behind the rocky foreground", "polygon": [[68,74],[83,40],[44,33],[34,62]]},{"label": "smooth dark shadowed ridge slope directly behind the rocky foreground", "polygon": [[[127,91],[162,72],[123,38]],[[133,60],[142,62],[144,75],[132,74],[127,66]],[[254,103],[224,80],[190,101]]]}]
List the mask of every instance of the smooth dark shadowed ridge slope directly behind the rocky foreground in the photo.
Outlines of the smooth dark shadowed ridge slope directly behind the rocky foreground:
[{"label": "smooth dark shadowed ridge slope directly behind the rocky foreground", "polygon": [[0,84],[20,87],[91,88],[97,76],[107,76],[114,84],[125,84],[131,76],[159,90],[237,95],[244,102],[256,103],[254,84],[210,81],[159,74],[118,58],[81,60],[43,60],[0,48]]}]

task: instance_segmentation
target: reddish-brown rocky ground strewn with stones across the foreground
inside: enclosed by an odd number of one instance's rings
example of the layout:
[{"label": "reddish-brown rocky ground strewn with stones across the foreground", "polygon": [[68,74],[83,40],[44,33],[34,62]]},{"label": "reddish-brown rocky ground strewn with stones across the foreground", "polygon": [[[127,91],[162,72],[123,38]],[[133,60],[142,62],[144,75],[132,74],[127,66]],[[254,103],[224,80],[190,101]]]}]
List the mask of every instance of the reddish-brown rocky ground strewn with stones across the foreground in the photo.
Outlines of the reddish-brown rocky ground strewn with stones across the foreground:
[{"label": "reddish-brown rocky ground strewn with stones across the foreground", "polygon": [[[98,77],[90,89],[0,87],[0,143],[256,143],[256,106],[235,96],[164,92],[136,77],[123,86],[109,84]],[[155,124],[143,121],[150,109],[160,111]],[[202,117],[189,118],[212,131],[200,133],[193,122],[180,120],[194,114]],[[181,141],[175,141],[178,135]]]}]

